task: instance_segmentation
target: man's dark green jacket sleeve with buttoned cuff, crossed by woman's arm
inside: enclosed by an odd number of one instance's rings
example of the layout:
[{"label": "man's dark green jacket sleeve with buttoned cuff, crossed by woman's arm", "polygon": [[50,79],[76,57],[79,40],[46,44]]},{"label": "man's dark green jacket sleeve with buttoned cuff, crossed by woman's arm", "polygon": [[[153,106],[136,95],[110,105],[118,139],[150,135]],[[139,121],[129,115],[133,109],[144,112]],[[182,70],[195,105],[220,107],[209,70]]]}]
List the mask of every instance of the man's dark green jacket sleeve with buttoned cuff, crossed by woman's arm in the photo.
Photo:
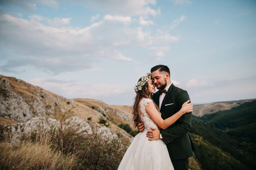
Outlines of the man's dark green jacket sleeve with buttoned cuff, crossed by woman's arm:
[{"label": "man's dark green jacket sleeve with buttoned cuff, crossed by woman's arm", "polygon": [[[181,109],[183,103],[187,100],[189,100],[187,91],[181,91],[177,101],[177,111]],[[189,103],[191,103],[191,101],[189,101]],[[169,126],[166,129],[161,129],[160,133],[162,134],[164,143],[167,144],[168,141],[171,142],[173,139],[189,132],[191,129],[191,119],[192,112],[188,112],[183,114],[172,126]]]}]

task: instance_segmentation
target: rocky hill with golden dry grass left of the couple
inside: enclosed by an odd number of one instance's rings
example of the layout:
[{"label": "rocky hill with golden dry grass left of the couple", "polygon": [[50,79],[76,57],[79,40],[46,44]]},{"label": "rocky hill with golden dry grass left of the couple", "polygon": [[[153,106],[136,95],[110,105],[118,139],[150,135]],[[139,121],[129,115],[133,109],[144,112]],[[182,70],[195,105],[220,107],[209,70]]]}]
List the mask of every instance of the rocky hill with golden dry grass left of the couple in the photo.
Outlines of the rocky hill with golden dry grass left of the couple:
[{"label": "rocky hill with golden dry grass left of the couple", "polygon": [[[72,115],[83,120],[84,124],[90,123],[98,128],[108,126],[107,129],[113,134],[121,131],[127,142],[133,139],[118,127],[119,123],[131,124],[131,114],[102,101],[66,99],[25,81],[3,75],[0,75],[0,101],[0,127],[10,129],[17,137],[25,126],[42,121],[40,118],[48,124],[56,124],[63,116]],[[99,123],[101,119],[105,123]]]}]

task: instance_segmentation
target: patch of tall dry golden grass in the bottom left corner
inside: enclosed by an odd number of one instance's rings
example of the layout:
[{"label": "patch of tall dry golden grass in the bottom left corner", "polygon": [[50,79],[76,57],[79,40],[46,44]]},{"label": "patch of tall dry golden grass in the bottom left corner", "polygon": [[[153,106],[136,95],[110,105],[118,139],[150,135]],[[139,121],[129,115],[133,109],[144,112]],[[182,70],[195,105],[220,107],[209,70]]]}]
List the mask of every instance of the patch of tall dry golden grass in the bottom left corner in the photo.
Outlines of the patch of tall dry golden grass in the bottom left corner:
[{"label": "patch of tall dry golden grass in the bottom left corner", "polygon": [[63,154],[51,145],[50,138],[20,144],[0,143],[0,169],[77,169],[73,154]]}]

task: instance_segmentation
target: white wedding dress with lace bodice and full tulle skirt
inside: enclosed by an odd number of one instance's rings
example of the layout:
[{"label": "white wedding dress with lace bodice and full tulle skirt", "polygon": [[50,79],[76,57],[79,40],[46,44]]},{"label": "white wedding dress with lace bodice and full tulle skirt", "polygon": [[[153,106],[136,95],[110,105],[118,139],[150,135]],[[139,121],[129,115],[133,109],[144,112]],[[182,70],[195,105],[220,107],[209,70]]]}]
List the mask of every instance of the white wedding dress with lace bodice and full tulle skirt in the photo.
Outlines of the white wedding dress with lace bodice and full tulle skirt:
[{"label": "white wedding dress with lace bodice and full tulle skirt", "polygon": [[146,137],[147,131],[152,130],[151,127],[158,128],[145,110],[149,102],[153,103],[151,99],[143,99],[140,102],[140,118],[145,129],[134,137],[118,170],[174,170],[164,141],[149,141]]}]

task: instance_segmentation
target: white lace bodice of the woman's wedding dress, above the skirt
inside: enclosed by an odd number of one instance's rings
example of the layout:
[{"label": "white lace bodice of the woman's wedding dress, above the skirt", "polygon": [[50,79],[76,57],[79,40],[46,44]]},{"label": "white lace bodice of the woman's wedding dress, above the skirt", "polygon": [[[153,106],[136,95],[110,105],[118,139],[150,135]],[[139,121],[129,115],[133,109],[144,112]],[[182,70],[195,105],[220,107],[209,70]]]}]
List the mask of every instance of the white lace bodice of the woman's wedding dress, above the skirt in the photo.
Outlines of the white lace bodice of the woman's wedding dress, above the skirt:
[{"label": "white lace bodice of the woman's wedding dress, above the skirt", "polygon": [[144,132],[148,131],[148,130],[152,130],[151,127],[153,128],[158,128],[158,126],[153,122],[153,120],[150,118],[150,116],[148,115],[148,113],[146,112],[146,105],[148,105],[148,103],[153,103],[153,101],[151,99],[142,99],[140,102],[140,110],[141,112],[140,114],[140,118],[141,121],[144,124]]}]

